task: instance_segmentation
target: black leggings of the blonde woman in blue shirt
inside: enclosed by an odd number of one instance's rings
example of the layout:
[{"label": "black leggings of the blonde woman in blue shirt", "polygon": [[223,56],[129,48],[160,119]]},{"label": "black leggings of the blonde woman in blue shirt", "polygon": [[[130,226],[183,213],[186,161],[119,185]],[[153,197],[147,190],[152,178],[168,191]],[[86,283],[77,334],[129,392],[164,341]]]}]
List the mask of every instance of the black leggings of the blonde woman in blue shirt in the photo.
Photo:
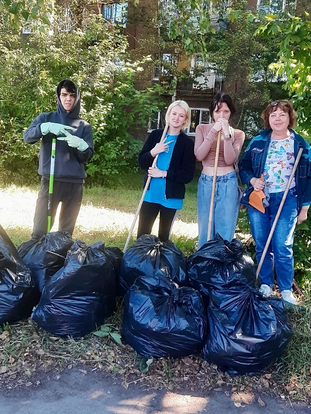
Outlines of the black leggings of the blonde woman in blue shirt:
[{"label": "black leggings of the blonde woman in blue shirt", "polygon": [[137,238],[142,234],[151,234],[153,223],[157,218],[159,212],[160,224],[158,237],[160,241],[168,241],[170,238],[170,230],[176,217],[177,209],[164,207],[158,203],[150,203],[148,201],[143,201],[143,204],[141,205],[141,210],[139,212]]}]

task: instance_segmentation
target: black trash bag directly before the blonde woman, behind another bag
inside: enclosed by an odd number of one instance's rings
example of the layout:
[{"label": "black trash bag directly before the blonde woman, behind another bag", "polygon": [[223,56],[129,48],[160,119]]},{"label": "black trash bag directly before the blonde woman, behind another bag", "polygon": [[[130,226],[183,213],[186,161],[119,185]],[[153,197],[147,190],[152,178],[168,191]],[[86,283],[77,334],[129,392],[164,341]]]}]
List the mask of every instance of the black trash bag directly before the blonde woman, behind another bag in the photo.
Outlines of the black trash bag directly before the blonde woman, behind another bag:
[{"label": "black trash bag directly before the blonde woman, behind another bag", "polygon": [[138,276],[163,274],[178,286],[188,286],[186,258],[175,244],[143,234],[123,255],[119,291],[124,296]]}]

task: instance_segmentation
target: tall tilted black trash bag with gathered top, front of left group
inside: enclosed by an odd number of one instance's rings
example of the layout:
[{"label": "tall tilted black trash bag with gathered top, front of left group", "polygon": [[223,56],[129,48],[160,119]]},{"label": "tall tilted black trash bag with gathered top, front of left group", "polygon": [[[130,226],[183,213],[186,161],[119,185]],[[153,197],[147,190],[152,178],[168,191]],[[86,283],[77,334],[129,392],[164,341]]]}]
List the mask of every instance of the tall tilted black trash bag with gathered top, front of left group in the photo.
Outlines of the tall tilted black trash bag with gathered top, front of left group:
[{"label": "tall tilted black trash bag with gathered top, front of left group", "polygon": [[80,338],[104,324],[116,308],[112,262],[104,243],[77,240],[65,265],[46,282],[32,319],[60,337]]}]

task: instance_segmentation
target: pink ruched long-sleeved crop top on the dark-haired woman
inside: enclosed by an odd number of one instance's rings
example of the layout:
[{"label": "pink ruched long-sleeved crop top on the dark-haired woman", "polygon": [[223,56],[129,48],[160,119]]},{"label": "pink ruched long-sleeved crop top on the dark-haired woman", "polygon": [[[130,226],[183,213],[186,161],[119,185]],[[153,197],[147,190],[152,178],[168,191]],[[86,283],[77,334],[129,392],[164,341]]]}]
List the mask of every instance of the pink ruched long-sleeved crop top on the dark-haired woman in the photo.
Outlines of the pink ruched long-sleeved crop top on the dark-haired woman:
[{"label": "pink ruched long-sleeved crop top on the dark-haired woman", "polygon": [[[202,161],[203,166],[214,167],[216,145],[218,132],[213,128],[212,124],[200,124],[195,130],[194,154],[198,161]],[[224,140],[224,135],[221,134],[220,148],[219,148],[219,167],[228,167],[238,159],[240,154],[245,134],[241,130],[234,129],[234,138],[232,141]]]}]

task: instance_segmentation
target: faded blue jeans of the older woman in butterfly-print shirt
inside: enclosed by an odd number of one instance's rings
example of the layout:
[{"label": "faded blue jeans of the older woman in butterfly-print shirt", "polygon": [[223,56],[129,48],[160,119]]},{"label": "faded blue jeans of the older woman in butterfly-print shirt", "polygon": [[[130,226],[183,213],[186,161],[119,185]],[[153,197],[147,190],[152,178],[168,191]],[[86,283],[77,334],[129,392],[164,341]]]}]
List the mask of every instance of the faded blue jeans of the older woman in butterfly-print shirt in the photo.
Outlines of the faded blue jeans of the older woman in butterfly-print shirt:
[{"label": "faded blue jeans of the older woman in butterfly-print shirt", "polygon": [[[284,192],[270,193],[269,207],[261,213],[253,207],[248,207],[250,229],[256,243],[256,258],[260,262],[265,248],[273,220],[281,203]],[[277,221],[275,231],[262,263],[259,277],[262,284],[270,287],[274,283],[274,266],[277,274],[279,290],[292,290],[294,279],[293,241],[297,222],[297,190],[289,190],[281,214]]]}]

